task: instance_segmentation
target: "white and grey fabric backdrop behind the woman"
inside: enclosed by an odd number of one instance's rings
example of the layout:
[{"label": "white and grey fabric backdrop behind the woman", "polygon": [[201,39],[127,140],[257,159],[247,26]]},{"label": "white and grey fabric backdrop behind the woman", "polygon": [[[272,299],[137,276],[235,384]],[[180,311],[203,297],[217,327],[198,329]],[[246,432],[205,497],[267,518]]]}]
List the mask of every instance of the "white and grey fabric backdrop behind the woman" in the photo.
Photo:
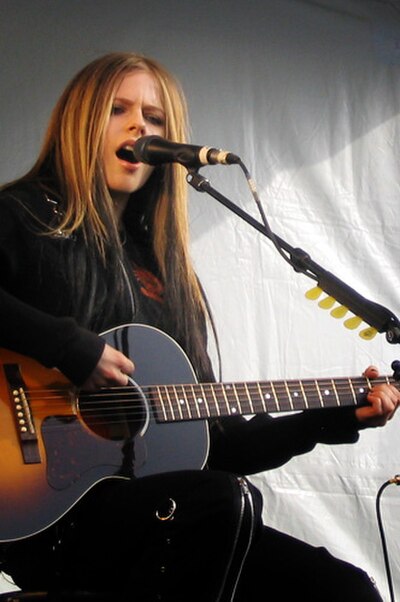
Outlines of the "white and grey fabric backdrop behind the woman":
[{"label": "white and grey fabric backdrop behind the woman", "polygon": [[[31,165],[81,66],[113,50],[143,52],[182,81],[192,142],[241,156],[272,229],[400,315],[398,2],[0,0],[0,49],[1,182]],[[202,173],[259,219],[239,168]],[[224,379],[354,376],[370,363],[390,373],[400,350],[384,334],[364,341],[306,300],[312,281],[215,200],[191,191],[190,210]],[[386,600],[375,499],[400,472],[399,421],[254,477],[269,524],[362,565]],[[400,599],[393,485],[382,513]]]}]

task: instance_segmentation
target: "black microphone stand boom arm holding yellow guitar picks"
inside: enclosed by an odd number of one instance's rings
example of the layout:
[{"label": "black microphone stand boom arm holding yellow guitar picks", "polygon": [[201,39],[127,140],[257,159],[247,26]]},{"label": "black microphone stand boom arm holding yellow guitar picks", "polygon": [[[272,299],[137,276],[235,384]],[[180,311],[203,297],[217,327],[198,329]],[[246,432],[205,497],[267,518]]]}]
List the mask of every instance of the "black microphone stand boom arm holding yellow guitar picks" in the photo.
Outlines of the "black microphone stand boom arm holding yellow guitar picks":
[{"label": "black microphone stand boom arm holding yellow guitar picks", "polygon": [[293,248],[282,238],[276,236],[264,224],[254,219],[246,211],[215,190],[209,181],[199,174],[197,170],[189,169],[186,179],[195,190],[208,193],[253,228],[261,232],[261,234],[269,238],[280,249],[284,249],[289,254],[289,263],[296,272],[305,274],[309,278],[316,280],[319,288],[344,305],[354,315],[362,318],[364,322],[375,328],[378,332],[385,332],[389,343],[400,343],[400,322],[386,307],[361,296],[334,274],[315,263],[303,249]]}]

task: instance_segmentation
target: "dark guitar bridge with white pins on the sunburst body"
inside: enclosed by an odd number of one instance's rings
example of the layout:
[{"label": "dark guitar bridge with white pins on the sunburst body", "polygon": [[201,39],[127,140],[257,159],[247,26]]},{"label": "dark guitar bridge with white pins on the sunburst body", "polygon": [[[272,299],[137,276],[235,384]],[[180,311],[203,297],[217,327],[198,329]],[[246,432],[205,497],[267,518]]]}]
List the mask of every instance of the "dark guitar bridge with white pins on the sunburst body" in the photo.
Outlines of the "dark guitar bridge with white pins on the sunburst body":
[{"label": "dark guitar bridge with white pins on the sunburst body", "polygon": [[11,399],[11,411],[19,437],[25,464],[40,463],[40,453],[36,428],[32,417],[26,386],[18,364],[4,364]]}]

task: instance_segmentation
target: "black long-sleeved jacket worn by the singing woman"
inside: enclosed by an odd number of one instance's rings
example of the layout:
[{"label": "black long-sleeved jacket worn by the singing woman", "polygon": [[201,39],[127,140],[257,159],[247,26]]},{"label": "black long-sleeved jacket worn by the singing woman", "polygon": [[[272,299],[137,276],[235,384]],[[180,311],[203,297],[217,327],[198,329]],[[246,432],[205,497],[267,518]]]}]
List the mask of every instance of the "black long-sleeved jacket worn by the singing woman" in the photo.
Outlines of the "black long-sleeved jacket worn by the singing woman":
[{"label": "black long-sleeved jacket worn by the singing woman", "polygon": [[[56,200],[37,185],[19,185],[0,193],[0,346],[56,367],[79,385],[96,366],[104,341],[71,311],[75,283],[66,277],[63,266],[68,245],[81,241],[62,232],[43,235],[46,226],[57,223],[59,210]],[[156,320],[157,301],[141,294],[129,250],[126,255],[134,315],[127,306],[118,323],[122,319],[151,324]],[[107,318],[100,325],[101,329],[97,322],[97,332],[118,324]],[[211,421],[210,434],[208,465],[240,474],[280,466],[319,442],[353,443],[358,439],[353,408],[279,418],[229,417]]]}]

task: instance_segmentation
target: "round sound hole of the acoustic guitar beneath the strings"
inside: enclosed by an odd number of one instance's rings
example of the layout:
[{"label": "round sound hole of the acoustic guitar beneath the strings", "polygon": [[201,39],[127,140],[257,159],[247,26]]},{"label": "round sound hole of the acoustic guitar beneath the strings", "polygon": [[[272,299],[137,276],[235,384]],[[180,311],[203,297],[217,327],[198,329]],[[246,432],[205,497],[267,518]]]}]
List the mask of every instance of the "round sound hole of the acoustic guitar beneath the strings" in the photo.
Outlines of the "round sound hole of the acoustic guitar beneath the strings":
[{"label": "round sound hole of the acoustic guitar beneath the strings", "polygon": [[135,437],[147,424],[146,398],[133,381],[128,387],[82,392],[78,403],[85,424],[104,439],[119,441]]}]

